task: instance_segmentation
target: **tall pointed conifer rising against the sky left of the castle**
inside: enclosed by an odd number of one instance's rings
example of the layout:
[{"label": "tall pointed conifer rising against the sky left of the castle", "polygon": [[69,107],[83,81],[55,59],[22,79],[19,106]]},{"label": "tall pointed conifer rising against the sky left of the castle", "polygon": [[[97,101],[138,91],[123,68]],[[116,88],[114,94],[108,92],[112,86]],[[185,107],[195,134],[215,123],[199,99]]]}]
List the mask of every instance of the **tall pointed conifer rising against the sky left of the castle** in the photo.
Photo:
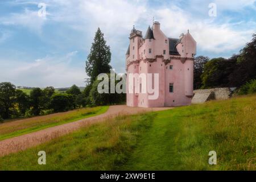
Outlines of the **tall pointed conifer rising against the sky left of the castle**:
[{"label": "tall pointed conifer rising against the sky left of the castle", "polygon": [[110,60],[110,47],[106,46],[104,34],[98,28],[85,66],[85,71],[90,77],[90,84],[93,84],[93,81],[96,80],[100,73],[110,73],[112,68],[109,65]]}]

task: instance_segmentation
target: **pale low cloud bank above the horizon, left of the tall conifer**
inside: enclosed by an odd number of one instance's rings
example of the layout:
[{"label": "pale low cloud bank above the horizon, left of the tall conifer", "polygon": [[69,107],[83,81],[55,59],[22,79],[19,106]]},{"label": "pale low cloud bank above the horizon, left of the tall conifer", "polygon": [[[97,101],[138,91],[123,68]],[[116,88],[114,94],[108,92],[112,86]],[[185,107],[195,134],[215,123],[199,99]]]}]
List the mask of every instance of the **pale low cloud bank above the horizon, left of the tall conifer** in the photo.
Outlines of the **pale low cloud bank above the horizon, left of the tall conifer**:
[{"label": "pale low cloud bank above the horizon, left of the tall conifer", "polygon": [[[69,60],[74,52],[64,56],[46,56],[32,63],[0,60],[0,81],[11,81],[22,86],[64,87],[73,84],[83,86],[86,73],[79,65],[72,67]],[[11,71],[10,71],[11,70]]]}]

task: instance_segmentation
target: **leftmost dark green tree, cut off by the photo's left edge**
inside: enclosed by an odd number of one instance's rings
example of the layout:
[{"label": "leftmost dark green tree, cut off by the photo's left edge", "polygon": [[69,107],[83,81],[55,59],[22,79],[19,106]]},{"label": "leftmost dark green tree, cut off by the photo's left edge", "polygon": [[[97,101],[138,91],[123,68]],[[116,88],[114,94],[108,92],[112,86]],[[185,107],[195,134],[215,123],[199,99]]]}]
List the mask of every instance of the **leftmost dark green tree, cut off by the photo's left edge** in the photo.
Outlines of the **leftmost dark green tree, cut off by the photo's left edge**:
[{"label": "leftmost dark green tree, cut off by the photo's left edge", "polygon": [[10,82],[0,83],[0,102],[3,105],[3,119],[10,118],[10,109],[13,107],[15,99],[16,86]]}]

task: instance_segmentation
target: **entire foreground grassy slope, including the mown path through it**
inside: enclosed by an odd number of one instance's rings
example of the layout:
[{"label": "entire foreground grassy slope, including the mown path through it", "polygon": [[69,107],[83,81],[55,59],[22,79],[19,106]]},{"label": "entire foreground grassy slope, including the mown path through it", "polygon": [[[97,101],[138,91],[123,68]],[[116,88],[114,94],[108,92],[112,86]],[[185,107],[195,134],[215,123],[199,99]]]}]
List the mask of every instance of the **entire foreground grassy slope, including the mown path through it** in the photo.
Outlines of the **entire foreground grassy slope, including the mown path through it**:
[{"label": "entire foreground grassy slope, including the mown path through it", "polygon": [[[4,156],[0,169],[255,170],[255,118],[255,95],[119,116]],[[210,166],[212,150],[217,165]]]}]

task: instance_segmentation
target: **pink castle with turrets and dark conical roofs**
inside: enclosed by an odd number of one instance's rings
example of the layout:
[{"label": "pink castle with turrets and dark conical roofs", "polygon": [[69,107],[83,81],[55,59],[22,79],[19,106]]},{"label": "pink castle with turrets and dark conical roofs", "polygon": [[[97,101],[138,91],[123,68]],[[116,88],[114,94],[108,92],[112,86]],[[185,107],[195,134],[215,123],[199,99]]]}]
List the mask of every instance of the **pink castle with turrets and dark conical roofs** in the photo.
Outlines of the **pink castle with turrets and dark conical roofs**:
[{"label": "pink castle with turrets and dark conical roofs", "polygon": [[[167,38],[160,30],[160,23],[154,22],[152,27],[148,27],[144,38],[141,31],[133,28],[129,39],[130,45],[126,52],[127,106],[190,105],[193,96],[193,60],[196,55],[196,42],[189,31],[185,35],[181,34],[179,39]],[[135,88],[136,84],[139,85],[139,92],[129,93],[128,83],[131,80],[128,75],[130,73],[138,73],[137,75],[158,73],[158,98],[148,99],[151,93],[142,93],[142,82],[140,78],[135,77],[133,87]]]}]

